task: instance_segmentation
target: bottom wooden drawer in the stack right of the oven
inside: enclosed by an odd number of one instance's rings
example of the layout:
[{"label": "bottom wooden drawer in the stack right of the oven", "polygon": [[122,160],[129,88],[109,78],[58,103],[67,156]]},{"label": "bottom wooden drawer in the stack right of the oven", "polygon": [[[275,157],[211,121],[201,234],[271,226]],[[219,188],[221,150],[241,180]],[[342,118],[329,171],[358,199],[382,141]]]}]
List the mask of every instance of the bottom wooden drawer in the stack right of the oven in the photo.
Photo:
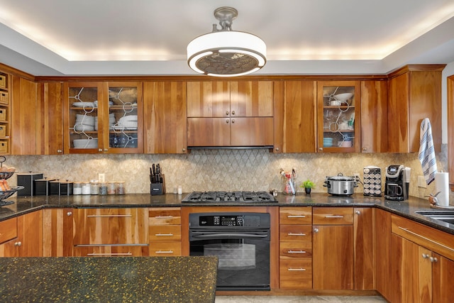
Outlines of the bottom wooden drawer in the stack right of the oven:
[{"label": "bottom wooden drawer in the stack right of the oven", "polygon": [[312,288],[311,260],[280,260],[279,282],[281,289],[310,290]]}]

